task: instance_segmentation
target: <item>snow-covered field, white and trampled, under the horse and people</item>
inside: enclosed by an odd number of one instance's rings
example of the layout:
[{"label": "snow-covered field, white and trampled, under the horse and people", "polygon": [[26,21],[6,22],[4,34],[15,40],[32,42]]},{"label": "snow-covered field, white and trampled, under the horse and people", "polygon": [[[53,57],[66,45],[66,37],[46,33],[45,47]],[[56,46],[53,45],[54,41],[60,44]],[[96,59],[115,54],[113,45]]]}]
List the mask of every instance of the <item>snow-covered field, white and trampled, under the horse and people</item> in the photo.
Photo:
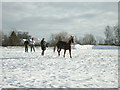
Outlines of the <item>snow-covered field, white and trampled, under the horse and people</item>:
[{"label": "snow-covered field, white and trampled, under the horse and people", "polygon": [[73,47],[72,59],[68,51],[58,57],[52,48],[41,56],[40,48],[25,53],[24,47],[1,47],[2,87],[117,88],[118,50],[81,47]]}]

